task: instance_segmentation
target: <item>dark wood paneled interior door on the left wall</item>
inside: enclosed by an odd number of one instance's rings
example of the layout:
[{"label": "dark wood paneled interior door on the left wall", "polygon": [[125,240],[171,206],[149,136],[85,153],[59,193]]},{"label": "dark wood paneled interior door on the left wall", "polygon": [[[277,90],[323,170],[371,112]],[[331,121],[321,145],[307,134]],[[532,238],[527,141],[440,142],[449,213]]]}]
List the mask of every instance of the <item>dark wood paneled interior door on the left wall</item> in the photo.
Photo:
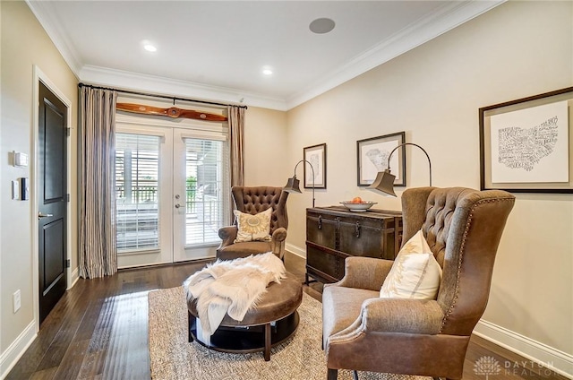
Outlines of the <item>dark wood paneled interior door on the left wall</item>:
[{"label": "dark wood paneled interior door on the left wall", "polygon": [[39,321],[66,289],[67,109],[39,82],[38,113],[38,263]]}]

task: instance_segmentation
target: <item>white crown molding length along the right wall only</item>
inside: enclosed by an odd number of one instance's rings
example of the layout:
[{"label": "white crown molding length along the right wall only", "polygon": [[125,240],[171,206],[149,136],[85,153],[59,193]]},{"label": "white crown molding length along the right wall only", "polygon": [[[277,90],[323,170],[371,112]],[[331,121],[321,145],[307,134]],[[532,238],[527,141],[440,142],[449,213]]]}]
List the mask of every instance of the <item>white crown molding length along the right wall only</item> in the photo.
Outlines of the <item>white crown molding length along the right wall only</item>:
[{"label": "white crown molding length along the right wall only", "polygon": [[469,0],[451,2],[441,7],[437,12],[398,31],[390,36],[389,39],[381,41],[375,47],[356,56],[347,62],[346,65],[322,75],[321,78],[310,83],[303,91],[286,99],[286,108],[295,108],[362,73],[372,70],[374,67],[422,45],[424,42],[435,39],[448,30],[452,30],[506,1]]}]

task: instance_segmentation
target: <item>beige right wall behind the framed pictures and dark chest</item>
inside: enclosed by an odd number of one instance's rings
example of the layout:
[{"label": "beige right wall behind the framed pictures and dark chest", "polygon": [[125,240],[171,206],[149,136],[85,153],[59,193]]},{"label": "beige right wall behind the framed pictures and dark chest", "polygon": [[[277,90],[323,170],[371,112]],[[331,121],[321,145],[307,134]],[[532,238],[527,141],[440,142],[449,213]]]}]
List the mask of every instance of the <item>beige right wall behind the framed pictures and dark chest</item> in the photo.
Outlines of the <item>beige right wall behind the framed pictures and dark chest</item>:
[{"label": "beige right wall behind the framed pictures and dark chest", "polygon": [[[509,2],[290,110],[289,155],[328,144],[328,190],[384,209],[399,199],[356,186],[357,140],[406,131],[432,158],[434,186],[479,188],[478,108],[573,85],[573,3]],[[422,151],[406,149],[407,186],[427,186]],[[291,197],[287,243],[304,250],[310,195]],[[399,194],[398,194],[399,195]],[[517,194],[484,320],[573,358],[573,195]],[[573,369],[569,368],[573,374]]]}]

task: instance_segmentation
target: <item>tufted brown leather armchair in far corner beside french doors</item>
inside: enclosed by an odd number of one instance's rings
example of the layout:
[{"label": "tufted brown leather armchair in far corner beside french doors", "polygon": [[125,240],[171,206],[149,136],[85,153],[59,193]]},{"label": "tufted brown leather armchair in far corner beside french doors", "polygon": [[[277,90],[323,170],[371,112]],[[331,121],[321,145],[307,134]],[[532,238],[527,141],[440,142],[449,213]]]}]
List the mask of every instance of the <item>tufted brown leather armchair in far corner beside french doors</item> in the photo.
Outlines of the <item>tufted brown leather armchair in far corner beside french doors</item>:
[{"label": "tufted brown leather armchair in far corner beside french doors", "polygon": [[285,255],[286,229],[288,218],[286,216],[286,198],[288,193],[282,187],[233,186],[231,194],[235,202],[235,209],[240,212],[255,215],[272,207],[270,217],[271,241],[249,241],[233,243],[236,238],[236,226],[227,226],[218,230],[218,237],[222,239],[217,249],[217,258],[231,260],[253,254],[274,253],[280,259]]}]

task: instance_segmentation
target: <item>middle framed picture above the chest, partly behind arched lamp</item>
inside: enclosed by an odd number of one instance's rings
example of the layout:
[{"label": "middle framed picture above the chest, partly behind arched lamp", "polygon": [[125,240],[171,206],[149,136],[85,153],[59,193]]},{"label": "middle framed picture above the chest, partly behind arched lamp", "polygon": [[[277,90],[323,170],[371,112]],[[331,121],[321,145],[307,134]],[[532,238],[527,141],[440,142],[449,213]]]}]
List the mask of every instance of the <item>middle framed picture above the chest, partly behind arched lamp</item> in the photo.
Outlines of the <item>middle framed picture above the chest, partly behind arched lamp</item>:
[{"label": "middle framed picture above the chest, partly behind arched lamp", "polygon": [[[379,171],[388,167],[390,153],[406,140],[405,132],[385,134],[356,142],[358,186],[369,186]],[[390,157],[390,172],[396,176],[394,186],[406,186],[406,145]]]}]

